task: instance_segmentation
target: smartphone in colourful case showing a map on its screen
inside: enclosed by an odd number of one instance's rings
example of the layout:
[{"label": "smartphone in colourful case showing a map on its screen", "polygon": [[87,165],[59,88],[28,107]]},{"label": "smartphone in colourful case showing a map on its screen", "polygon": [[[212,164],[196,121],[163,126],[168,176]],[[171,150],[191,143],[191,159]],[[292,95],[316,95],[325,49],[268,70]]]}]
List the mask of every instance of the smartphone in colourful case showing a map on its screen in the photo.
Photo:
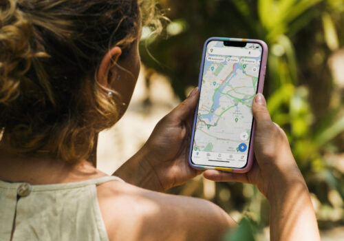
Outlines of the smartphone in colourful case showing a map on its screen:
[{"label": "smartphone in colourful case showing a map on its screen", "polygon": [[252,101],[263,92],[267,58],[268,46],[261,40],[213,37],[204,43],[189,153],[192,167],[239,173],[250,169]]}]

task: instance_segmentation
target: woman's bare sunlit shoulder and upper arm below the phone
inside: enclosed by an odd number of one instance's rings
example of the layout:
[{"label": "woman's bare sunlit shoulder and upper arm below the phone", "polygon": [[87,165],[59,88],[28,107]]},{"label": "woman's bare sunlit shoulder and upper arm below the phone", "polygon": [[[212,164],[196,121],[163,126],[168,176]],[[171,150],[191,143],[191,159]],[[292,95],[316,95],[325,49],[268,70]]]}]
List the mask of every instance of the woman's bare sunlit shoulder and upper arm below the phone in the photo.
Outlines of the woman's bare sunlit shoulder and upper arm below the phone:
[{"label": "woman's bare sunlit shoulder and upper arm below the phone", "polygon": [[199,198],[118,181],[98,186],[97,192],[110,241],[217,240],[234,225],[217,205]]}]

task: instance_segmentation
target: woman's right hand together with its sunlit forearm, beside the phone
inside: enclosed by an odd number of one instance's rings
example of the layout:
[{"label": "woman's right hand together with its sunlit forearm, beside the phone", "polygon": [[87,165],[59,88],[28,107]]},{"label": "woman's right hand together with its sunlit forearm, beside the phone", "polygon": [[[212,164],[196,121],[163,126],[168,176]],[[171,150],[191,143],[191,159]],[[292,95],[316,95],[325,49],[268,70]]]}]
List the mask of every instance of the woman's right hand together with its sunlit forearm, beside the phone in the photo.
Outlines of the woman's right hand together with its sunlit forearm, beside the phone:
[{"label": "woman's right hand together with its sunlit forearm, beside the phone", "polygon": [[270,202],[270,240],[320,240],[305,180],[286,134],[271,121],[262,94],[255,97],[252,113],[257,124],[252,169],[245,174],[207,170],[204,177],[255,185]]}]

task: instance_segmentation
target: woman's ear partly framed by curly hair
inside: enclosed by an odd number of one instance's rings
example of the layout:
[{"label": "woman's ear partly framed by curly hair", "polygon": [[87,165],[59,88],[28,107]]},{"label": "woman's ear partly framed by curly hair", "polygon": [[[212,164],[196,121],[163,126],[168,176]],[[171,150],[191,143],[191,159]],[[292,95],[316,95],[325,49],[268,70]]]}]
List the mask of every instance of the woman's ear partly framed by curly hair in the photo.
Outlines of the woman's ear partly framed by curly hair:
[{"label": "woman's ear partly framed by curly hair", "polygon": [[111,48],[111,50],[109,50],[105,54],[104,58],[102,59],[99,65],[99,69],[97,73],[97,80],[100,83],[100,85],[103,85],[105,87],[108,86],[109,72],[111,70],[111,67],[113,67],[115,63],[118,61],[120,54],[122,54],[122,49],[118,46]]}]

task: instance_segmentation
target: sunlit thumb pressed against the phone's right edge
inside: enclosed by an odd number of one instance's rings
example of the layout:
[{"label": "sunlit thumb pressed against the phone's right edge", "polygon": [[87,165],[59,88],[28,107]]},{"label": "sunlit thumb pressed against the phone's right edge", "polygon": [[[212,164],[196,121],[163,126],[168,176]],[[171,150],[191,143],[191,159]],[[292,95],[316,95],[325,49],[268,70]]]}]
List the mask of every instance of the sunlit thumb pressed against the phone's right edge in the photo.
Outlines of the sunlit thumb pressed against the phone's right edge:
[{"label": "sunlit thumb pressed against the phone's right edge", "polygon": [[263,94],[258,93],[252,104],[252,114],[255,117],[257,126],[271,123],[271,117],[266,107],[266,101]]}]

